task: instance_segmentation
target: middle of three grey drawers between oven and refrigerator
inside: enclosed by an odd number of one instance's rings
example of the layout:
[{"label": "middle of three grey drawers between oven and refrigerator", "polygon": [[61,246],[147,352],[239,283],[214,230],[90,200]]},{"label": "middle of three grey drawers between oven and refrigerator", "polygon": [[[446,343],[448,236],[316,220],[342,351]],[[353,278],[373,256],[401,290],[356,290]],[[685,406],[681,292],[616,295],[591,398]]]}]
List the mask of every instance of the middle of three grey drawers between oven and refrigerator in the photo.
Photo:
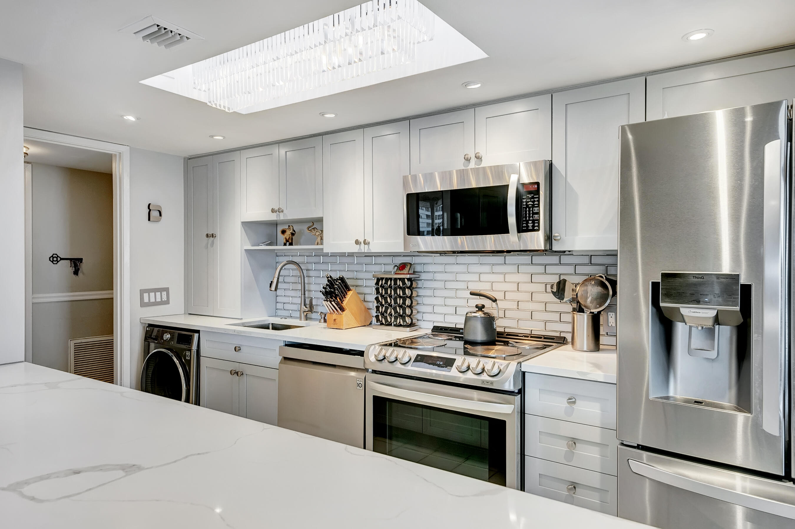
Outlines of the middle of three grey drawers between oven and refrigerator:
[{"label": "middle of three grey drawers between oven and refrigerator", "polygon": [[533,458],[616,476],[617,445],[615,430],[525,415],[525,455]]}]

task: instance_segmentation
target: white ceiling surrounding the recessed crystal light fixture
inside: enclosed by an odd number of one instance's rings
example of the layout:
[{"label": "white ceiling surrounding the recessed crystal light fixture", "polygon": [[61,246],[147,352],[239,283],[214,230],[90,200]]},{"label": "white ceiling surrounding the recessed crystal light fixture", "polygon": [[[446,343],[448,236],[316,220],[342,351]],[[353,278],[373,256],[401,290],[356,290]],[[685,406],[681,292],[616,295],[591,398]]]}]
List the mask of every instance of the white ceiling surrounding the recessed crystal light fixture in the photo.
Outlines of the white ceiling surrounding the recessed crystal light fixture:
[{"label": "white ceiling surrounding the recessed crystal light fixture", "polygon": [[[356,3],[7,1],[0,57],[24,65],[25,125],[192,155],[795,43],[792,0],[426,0],[489,57],[246,115],[138,83]],[[164,50],[117,32],[149,14],[206,40]],[[715,34],[681,40],[703,28]],[[471,79],[483,87],[463,89]]]}]

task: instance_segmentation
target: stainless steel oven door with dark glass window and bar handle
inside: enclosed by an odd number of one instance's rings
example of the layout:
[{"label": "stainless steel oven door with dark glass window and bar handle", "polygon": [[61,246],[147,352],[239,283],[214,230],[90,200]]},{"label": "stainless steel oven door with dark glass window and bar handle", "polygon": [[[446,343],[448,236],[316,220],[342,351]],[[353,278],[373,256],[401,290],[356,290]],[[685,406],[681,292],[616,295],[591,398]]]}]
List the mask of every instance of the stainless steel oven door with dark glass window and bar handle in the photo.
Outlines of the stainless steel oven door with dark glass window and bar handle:
[{"label": "stainless steel oven door with dark glass window and bar handle", "polygon": [[521,397],[378,373],[365,380],[366,449],[519,488]]}]

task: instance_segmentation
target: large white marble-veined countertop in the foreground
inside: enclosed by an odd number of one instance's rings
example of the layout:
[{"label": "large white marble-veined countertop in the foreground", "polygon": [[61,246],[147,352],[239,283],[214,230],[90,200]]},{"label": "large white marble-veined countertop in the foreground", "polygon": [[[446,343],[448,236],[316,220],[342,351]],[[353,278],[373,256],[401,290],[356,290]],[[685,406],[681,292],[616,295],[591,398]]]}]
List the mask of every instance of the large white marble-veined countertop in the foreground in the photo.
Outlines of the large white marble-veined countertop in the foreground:
[{"label": "large white marble-veined countertop in the foreground", "polygon": [[14,529],[647,527],[204,407],[0,365]]}]

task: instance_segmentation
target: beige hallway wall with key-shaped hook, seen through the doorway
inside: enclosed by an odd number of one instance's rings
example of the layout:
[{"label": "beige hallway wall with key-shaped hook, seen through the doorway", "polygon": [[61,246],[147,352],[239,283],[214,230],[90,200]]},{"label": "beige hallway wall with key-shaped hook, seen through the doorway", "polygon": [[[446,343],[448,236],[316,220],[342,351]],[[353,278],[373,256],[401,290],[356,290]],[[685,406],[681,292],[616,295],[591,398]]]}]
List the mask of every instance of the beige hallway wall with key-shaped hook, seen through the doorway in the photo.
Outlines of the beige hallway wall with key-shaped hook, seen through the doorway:
[{"label": "beige hallway wall with key-shaped hook, seen through the doorway", "polygon": [[[108,168],[109,170],[111,168]],[[33,299],[113,290],[113,177],[32,164]],[[83,257],[80,274],[52,253]],[[33,303],[33,363],[68,369],[68,340],[113,334],[113,299]]]}]

